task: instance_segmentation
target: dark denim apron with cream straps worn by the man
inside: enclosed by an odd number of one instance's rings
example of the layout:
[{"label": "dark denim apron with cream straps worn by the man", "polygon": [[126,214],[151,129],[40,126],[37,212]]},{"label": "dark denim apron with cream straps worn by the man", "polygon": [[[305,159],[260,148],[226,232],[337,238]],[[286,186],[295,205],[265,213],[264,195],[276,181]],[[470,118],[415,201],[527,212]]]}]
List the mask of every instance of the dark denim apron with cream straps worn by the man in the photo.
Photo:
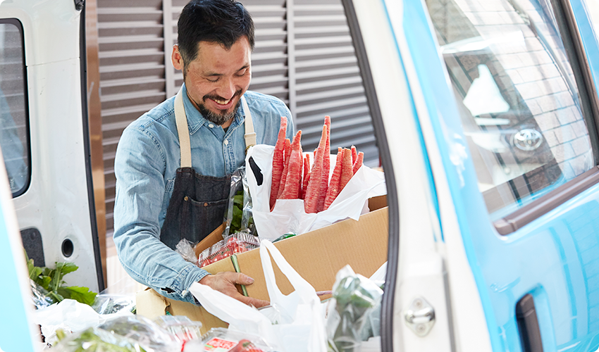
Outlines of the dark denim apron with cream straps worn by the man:
[{"label": "dark denim apron with cream straps worn by the man", "polygon": [[[243,96],[241,101],[245,113],[245,144],[249,148],[256,144],[256,133],[252,114]],[[204,176],[192,168],[183,89],[175,97],[175,120],[181,149],[181,167],[177,169],[173,195],[160,230],[160,240],[171,249],[175,249],[181,239],[196,244],[222,225],[230,191],[230,175]]]}]

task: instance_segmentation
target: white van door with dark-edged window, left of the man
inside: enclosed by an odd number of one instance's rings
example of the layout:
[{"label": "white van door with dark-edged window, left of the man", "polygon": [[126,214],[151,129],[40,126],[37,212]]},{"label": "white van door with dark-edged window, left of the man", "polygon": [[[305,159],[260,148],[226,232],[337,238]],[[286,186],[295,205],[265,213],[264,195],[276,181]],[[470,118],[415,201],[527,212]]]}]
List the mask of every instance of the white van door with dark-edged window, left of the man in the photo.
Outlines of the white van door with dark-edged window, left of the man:
[{"label": "white van door with dark-edged window, left of the man", "polygon": [[27,255],[98,292],[82,3],[0,4],[0,146]]}]

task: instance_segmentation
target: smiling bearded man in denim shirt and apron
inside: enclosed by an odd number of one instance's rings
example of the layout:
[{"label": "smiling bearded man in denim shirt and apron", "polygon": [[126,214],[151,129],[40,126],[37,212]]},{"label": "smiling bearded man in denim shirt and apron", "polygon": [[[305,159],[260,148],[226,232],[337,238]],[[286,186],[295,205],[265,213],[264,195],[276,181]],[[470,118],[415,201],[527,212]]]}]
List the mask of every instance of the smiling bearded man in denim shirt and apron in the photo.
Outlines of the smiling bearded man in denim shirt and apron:
[{"label": "smiling bearded man in denim shirt and apron", "polygon": [[118,144],[118,258],[135,280],[168,298],[195,303],[188,289],[200,282],[247,304],[267,303],[237,292],[235,284],[252,284],[247,275],[209,275],[173,251],[180,239],[200,241],[222,224],[230,175],[244,164],[246,147],[274,145],[280,117],[291,122],[282,101],[247,91],[253,47],[254,24],[241,4],[192,0],[171,56],[183,70],[181,91],[132,122]]}]

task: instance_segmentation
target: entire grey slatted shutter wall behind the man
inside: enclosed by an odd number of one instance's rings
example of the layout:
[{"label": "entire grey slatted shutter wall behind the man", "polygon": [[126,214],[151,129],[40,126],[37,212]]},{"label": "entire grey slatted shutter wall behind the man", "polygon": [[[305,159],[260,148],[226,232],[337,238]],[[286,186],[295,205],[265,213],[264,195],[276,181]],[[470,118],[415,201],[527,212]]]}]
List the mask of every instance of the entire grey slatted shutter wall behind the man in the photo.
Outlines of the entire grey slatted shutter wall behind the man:
[{"label": "entire grey slatted shutter wall behind the man", "polygon": [[[106,229],[113,232],[114,154],[132,120],[176,94],[171,65],[177,20],[187,0],[97,0]],[[373,128],[340,0],[242,0],[256,26],[249,89],[290,107],[304,151],[316,148],[331,115],[331,148],[357,146],[378,165]],[[165,62],[166,70],[165,70]]]}]

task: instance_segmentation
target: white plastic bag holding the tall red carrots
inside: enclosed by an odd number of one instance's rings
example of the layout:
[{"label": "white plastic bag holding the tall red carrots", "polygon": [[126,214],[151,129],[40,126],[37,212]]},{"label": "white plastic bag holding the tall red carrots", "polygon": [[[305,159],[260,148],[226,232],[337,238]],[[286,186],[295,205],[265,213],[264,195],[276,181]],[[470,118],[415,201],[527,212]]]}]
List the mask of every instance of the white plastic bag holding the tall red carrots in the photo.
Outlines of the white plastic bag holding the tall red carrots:
[{"label": "white plastic bag holding the tall red carrots", "polygon": [[[358,220],[360,215],[368,212],[369,198],[387,194],[383,172],[362,165],[327,210],[305,213],[302,199],[278,199],[271,212],[269,202],[273,178],[273,152],[274,146],[259,144],[250,148],[245,158],[246,165],[249,165],[249,158],[252,158],[261,173],[261,177],[257,177],[255,170],[247,166],[254,223],[261,238],[272,241],[282,234],[303,234],[347,218]],[[335,168],[335,161],[336,156],[331,154],[331,174]],[[257,178],[261,179],[261,182]]]}]

